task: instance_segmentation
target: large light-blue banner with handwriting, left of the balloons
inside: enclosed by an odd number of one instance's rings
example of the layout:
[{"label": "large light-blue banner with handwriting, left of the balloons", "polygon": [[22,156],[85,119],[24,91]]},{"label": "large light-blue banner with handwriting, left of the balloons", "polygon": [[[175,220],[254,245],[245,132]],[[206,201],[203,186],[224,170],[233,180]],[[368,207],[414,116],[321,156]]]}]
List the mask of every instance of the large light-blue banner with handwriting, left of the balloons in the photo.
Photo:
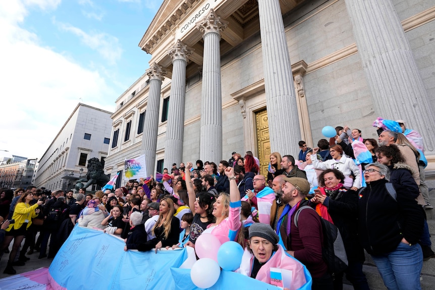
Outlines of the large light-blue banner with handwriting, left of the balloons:
[{"label": "large light-blue banner with handwriting, left of the balloons", "polygon": [[[50,265],[59,289],[173,289],[171,267],[187,259],[177,251],[124,251],[124,241],[103,231],[74,227]],[[157,286],[158,284],[158,286]]]}]

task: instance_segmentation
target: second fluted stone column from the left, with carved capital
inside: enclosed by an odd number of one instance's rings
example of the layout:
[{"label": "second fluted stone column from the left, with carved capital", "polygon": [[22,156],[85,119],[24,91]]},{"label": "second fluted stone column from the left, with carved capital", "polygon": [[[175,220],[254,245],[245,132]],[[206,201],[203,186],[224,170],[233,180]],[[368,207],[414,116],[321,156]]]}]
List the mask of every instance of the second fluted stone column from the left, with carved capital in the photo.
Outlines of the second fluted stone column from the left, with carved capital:
[{"label": "second fluted stone column from the left, with carved capital", "polygon": [[166,129],[165,164],[182,162],[184,134],[184,98],[186,94],[187,58],[192,53],[180,40],[168,54],[172,59],[171,100],[169,105],[168,127]]}]

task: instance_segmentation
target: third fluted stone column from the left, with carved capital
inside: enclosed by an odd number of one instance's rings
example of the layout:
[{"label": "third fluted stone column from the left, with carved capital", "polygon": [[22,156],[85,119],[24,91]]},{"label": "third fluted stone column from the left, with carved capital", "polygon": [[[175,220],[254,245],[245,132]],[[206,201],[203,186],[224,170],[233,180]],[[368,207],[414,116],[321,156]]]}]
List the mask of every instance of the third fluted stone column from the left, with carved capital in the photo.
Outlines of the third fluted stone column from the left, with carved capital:
[{"label": "third fluted stone column from the left, with carved capital", "polygon": [[212,9],[196,28],[203,33],[202,103],[199,158],[218,163],[222,160],[222,88],[221,88],[221,31],[228,22]]}]

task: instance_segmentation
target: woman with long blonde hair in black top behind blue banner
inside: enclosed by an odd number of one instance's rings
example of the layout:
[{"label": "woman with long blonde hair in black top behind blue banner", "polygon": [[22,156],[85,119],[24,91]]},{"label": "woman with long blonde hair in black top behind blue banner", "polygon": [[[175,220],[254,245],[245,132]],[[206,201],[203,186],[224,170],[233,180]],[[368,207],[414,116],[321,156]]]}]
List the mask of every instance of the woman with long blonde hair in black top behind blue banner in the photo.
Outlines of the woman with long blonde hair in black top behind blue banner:
[{"label": "woman with long blonde hair in black top behind blue banner", "polygon": [[137,249],[145,252],[155,248],[155,252],[162,247],[172,247],[178,243],[180,235],[180,220],[174,216],[174,202],[170,197],[162,198],[160,201],[158,219],[152,228],[154,239],[139,244]]}]

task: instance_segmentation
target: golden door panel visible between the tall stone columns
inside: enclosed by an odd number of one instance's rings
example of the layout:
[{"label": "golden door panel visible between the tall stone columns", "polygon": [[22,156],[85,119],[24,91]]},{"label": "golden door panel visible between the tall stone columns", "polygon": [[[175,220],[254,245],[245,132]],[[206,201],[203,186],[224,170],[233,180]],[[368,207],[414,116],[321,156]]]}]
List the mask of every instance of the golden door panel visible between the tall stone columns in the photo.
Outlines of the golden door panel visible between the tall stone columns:
[{"label": "golden door panel visible between the tall stone columns", "polygon": [[267,176],[267,167],[270,156],[269,123],[267,121],[267,110],[255,113],[257,131],[258,159],[260,160],[260,174]]}]

